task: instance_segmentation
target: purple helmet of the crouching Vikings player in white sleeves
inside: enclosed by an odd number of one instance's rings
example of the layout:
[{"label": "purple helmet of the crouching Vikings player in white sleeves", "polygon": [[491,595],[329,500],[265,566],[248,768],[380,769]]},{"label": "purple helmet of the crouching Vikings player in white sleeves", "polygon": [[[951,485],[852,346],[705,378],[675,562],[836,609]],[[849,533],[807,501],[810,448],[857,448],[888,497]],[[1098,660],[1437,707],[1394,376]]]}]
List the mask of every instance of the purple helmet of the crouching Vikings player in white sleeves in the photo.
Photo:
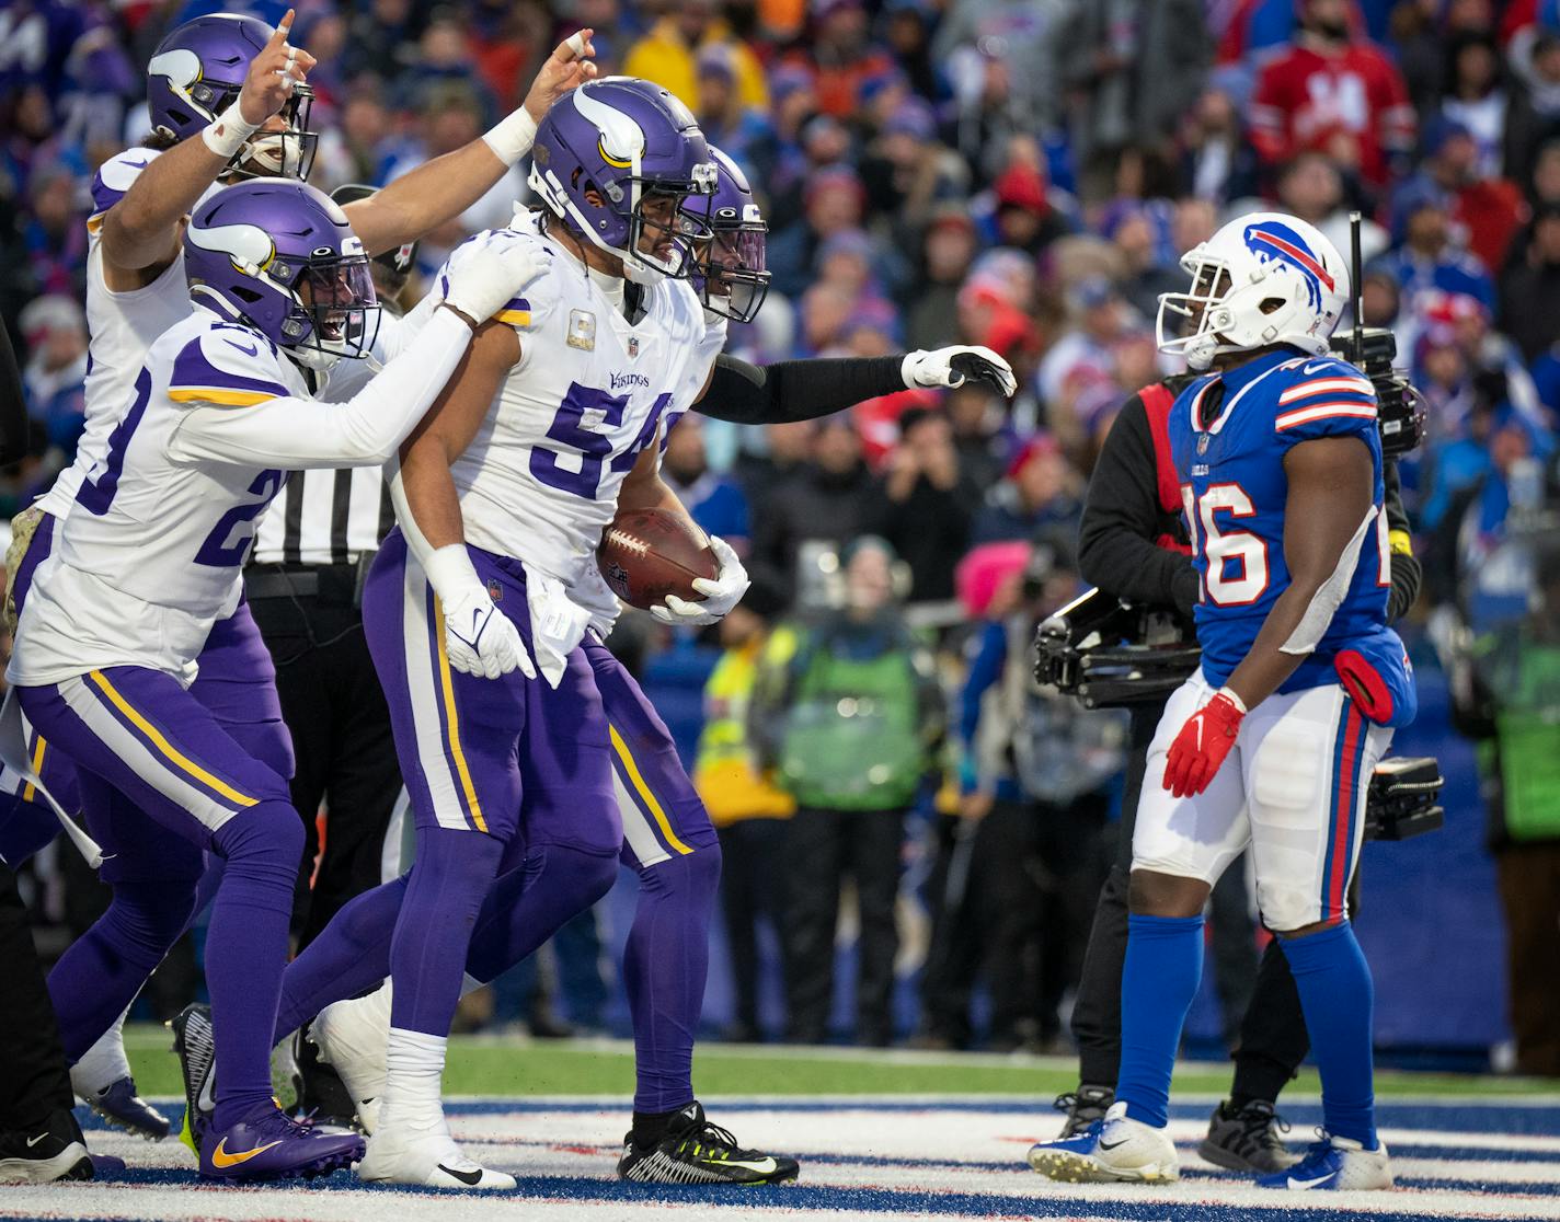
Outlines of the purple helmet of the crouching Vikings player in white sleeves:
[{"label": "purple helmet of the crouching Vikings player in white sleeves", "polygon": [[363,243],[306,182],[259,178],[217,192],[184,231],[184,276],[197,304],[310,369],[368,355],[379,330]]}]

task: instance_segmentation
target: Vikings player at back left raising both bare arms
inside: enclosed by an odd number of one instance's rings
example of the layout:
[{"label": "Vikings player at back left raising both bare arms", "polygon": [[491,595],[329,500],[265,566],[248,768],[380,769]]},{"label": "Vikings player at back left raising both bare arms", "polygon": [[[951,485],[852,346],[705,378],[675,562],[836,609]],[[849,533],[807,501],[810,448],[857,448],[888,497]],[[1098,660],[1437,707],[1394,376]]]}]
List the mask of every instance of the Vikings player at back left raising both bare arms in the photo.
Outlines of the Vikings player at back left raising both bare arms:
[{"label": "Vikings player at back left raising both bare arms", "polygon": [[[14,524],[8,563],[12,605],[25,597],[33,572],[48,556],[58,524],[72,511],[100,513],[95,489],[112,477],[111,438],[133,401],[147,348],[190,313],[179,240],[186,215],[223,182],[303,178],[309,171],[315,134],[307,129],[307,72],[314,58],[287,42],[290,23],[290,11],[276,30],[253,17],[198,17],[165,36],[148,62],[153,137],[105,162],[92,184],[86,432],[73,466]],[[498,182],[529,151],[532,115],[544,115],[554,98],[594,73],[583,59],[590,51],[587,30],[554,51],[524,108],[493,131],[353,203],[348,215],[370,253],[417,238]],[[323,382],[324,369],[314,377]],[[242,603],[214,627],[200,672],[197,683],[209,689],[207,705],[225,728],[290,775],[292,743],[275,697],[265,695],[275,678],[270,655]],[[27,753],[48,792],[66,809],[76,809],[81,803],[64,754],[50,751],[36,734]],[[27,778],[9,776],[8,787],[16,798],[33,796]],[[114,826],[123,795],[101,787],[92,795],[86,821],[108,849],[103,878],[115,884],[114,902],[61,959],[50,993],[78,1096],[111,1122],[161,1138],[168,1124],[136,1094],[120,1026],[140,985],[183,932],[168,916],[161,884],[168,871],[200,870],[200,862],[142,859],[122,848]],[[34,851],[53,834],[50,823],[25,812],[8,820],[6,859]],[[214,882],[207,882],[207,893]],[[176,1038],[183,1041],[183,1030]]]}]

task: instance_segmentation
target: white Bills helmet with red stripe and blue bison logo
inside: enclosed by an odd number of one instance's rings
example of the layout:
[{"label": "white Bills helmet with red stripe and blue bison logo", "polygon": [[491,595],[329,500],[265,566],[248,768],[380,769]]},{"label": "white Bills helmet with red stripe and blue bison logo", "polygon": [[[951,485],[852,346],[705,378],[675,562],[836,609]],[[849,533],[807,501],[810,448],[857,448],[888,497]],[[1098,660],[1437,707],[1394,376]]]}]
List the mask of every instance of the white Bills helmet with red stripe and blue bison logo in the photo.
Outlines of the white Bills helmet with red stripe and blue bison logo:
[{"label": "white Bills helmet with red stripe and blue bison logo", "polygon": [[1314,224],[1284,212],[1229,221],[1182,254],[1181,267],[1192,287],[1159,295],[1156,326],[1159,351],[1186,355],[1193,369],[1268,344],[1324,355],[1349,299],[1343,257]]}]

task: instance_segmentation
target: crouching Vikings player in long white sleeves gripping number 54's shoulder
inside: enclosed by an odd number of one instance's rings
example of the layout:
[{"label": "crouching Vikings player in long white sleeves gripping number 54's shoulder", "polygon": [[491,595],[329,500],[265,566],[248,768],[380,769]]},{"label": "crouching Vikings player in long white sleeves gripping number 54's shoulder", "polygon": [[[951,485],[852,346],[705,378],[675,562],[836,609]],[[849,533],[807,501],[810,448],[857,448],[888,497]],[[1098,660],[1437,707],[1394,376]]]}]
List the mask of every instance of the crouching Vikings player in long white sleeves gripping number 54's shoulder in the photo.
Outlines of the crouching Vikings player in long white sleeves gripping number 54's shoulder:
[{"label": "crouching Vikings player in long white sleeves gripping number 54's shoulder", "polygon": [[[477,323],[546,263],[527,248],[465,249],[406,351],[349,402],[321,410],[310,376],[368,355],[374,338],[362,243],[301,182],[218,192],[184,234],[197,309],[148,349],[103,474],[83,483],[90,511],[59,525],[25,594],[12,689],[76,762],[83,789],[123,795],[115,848],[167,864],[161,918],[172,929],[189,920],[203,853],[225,867],[206,957],[220,1074],[204,1177],[326,1174],[362,1155],[359,1138],[295,1124],[271,1100],[303,823],[285,775],[218,722],[212,706],[226,694],[192,687],[207,636],[242,595],[254,519],[281,472],[385,461]],[[268,687],[246,684],[251,697]]]}]

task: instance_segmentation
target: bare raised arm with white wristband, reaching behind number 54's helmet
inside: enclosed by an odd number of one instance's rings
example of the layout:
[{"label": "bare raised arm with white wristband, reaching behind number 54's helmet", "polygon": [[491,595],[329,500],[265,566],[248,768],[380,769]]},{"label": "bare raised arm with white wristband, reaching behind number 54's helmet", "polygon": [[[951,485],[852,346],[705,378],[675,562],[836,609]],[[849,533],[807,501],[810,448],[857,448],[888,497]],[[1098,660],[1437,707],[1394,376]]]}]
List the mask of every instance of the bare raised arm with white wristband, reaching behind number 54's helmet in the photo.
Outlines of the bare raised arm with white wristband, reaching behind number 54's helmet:
[{"label": "bare raised arm with white wristband, reaching behind number 54's helmet", "polygon": [[363,248],[381,254],[413,242],[487,195],[530,151],[548,108],[596,75],[596,65],[587,59],[596,53],[590,36],[590,30],[580,30],[560,42],[532,81],[524,104],[490,132],[348,204],[346,217]]}]

